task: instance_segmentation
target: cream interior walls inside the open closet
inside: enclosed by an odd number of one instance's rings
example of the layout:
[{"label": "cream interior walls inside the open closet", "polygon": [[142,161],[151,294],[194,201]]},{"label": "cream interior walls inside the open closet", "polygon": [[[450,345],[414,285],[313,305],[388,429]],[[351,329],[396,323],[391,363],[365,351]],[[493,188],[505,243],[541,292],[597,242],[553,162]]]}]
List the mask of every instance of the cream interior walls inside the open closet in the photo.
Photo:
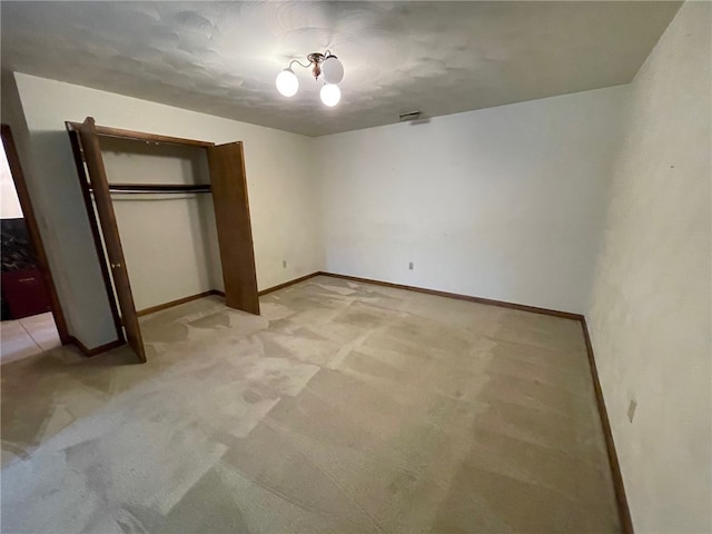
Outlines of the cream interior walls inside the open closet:
[{"label": "cream interior walls inside the open closet", "polygon": [[[100,138],[109,185],[210,185],[206,150]],[[112,191],[136,309],[224,290],[210,192]]]}]

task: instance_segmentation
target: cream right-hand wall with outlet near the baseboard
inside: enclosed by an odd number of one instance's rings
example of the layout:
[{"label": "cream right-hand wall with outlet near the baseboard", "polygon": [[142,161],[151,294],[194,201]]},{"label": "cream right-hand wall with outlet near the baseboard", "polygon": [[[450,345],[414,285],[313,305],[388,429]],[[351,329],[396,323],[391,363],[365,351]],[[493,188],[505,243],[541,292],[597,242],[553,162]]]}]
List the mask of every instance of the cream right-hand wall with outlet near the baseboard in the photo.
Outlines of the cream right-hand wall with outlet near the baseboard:
[{"label": "cream right-hand wall with outlet near the baseboard", "polygon": [[684,4],[631,86],[587,312],[639,533],[712,531],[711,9]]}]

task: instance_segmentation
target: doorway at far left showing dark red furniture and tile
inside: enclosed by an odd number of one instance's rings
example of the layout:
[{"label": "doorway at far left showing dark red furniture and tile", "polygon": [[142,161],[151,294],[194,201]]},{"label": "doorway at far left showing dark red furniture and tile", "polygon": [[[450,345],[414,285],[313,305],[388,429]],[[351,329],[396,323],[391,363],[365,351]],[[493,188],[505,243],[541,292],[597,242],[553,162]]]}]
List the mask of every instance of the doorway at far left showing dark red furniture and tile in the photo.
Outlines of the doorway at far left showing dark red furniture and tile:
[{"label": "doorway at far left showing dark red furniture and tile", "polygon": [[7,125],[2,125],[1,130],[0,363],[4,364],[71,343],[71,337],[59,304],[12,131]]}]

